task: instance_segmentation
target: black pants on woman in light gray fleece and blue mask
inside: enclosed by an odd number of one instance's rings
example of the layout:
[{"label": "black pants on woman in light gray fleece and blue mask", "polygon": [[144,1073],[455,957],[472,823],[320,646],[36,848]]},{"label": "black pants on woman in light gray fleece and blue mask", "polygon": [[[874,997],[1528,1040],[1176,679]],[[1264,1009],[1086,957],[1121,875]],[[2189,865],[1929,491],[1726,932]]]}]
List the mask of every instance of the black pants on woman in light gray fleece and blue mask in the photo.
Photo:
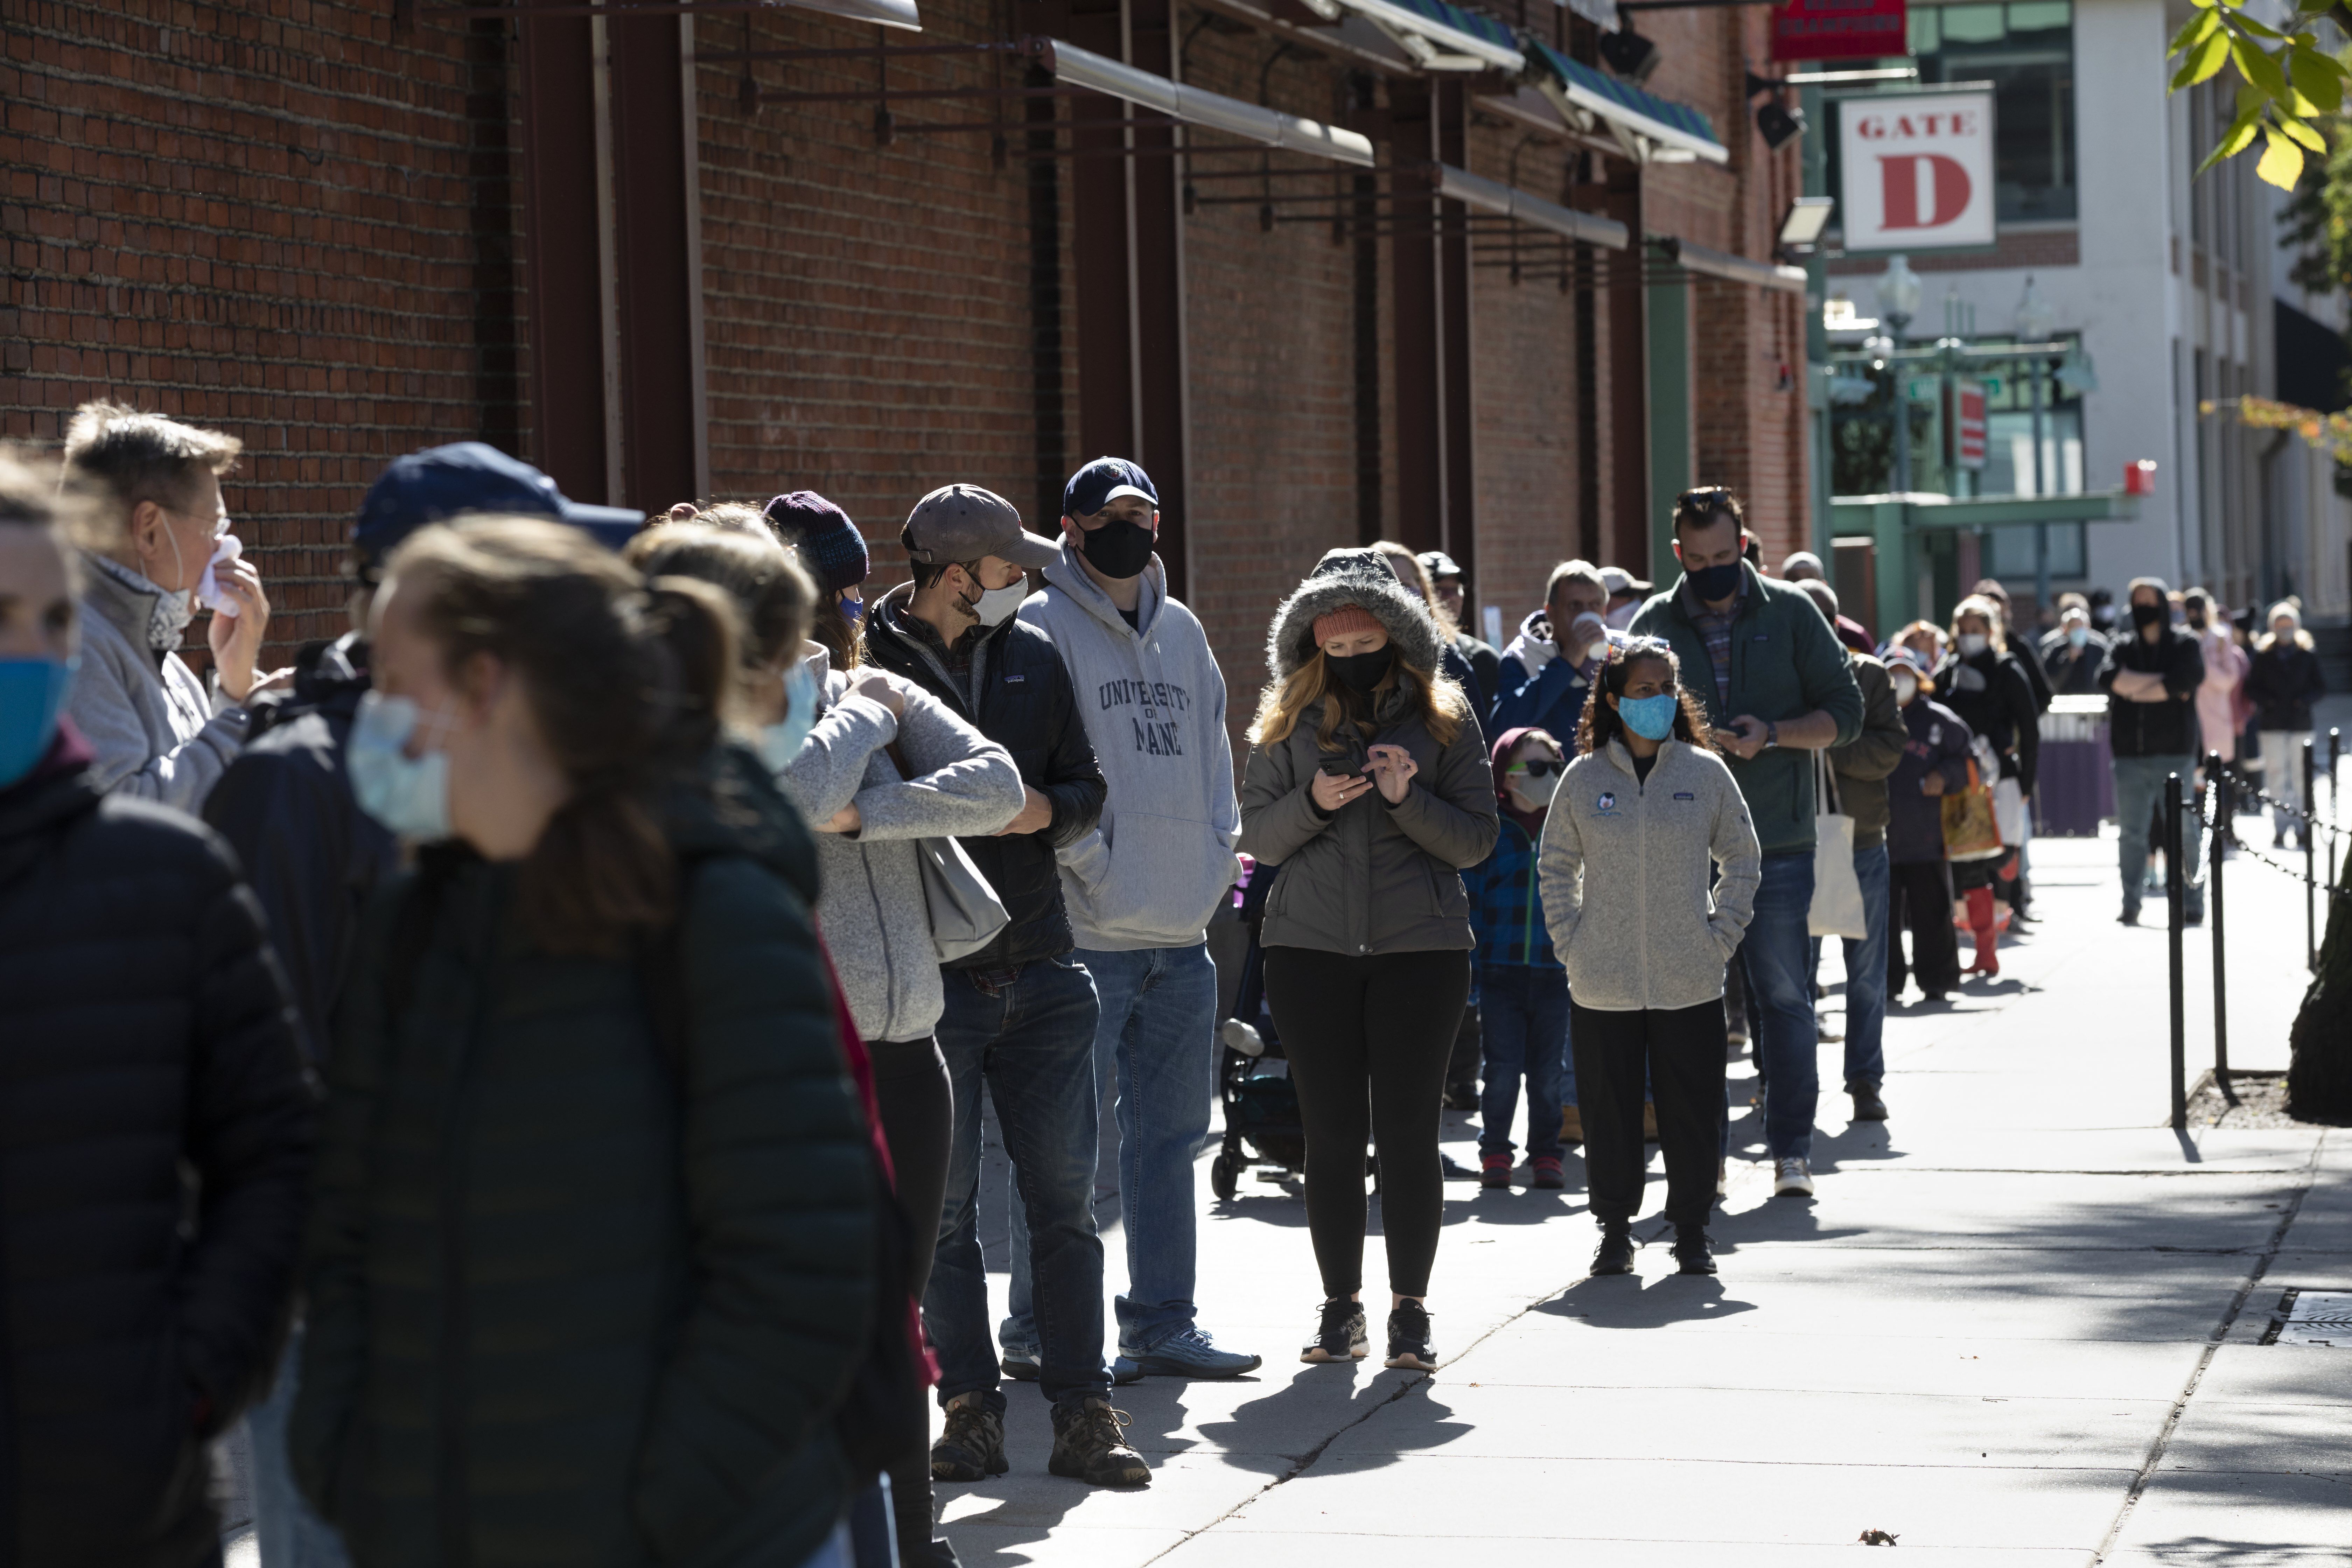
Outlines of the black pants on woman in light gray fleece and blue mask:
[{"label": "black pants on woman in light gray fleece and blue mask", "polygon": [[1576,1107],[1585,1119],[1585,1192],[1595,1220],[1642,1213],[1642,1077],[1658,1107],[1665,1218],[1705,1227],[1724,1152],[1724,1004],[1604,1013],[1569,999]]}]

